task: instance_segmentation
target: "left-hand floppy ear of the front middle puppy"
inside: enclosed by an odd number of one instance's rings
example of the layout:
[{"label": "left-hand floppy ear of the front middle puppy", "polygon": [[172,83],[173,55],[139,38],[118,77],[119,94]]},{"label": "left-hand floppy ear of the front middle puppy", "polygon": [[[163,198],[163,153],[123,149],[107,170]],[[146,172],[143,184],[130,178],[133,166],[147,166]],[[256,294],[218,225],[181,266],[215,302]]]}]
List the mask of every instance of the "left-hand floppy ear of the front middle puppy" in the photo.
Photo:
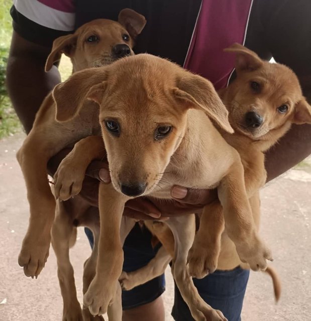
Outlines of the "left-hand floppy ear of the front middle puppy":
[{"label": "left-hand floppy ear of the front middle puppy", "polygon": [[[56,105],[56,120],[68,121],[82,108],[86,99],[97,101],[94,85],[100,85],[107,78],[105,67],[85,69],[73,74],[68,80],[57,85],[52,92]],[[99,87],[98,87],[99,88]],[[101,102],[101,101],[100,101]]]}]

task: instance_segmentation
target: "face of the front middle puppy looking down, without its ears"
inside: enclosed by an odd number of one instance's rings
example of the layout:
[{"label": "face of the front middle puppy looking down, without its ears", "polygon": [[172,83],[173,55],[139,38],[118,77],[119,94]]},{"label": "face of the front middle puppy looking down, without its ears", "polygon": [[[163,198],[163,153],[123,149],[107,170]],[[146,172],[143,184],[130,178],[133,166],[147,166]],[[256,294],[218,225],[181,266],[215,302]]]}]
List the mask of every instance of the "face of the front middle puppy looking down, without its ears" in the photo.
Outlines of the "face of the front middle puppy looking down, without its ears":
[{"label": "face of the front middle puppy looking down, without its ears", "polygon": [[101,105],[99,120],[115,189],[138,196],[159,186],[183,138],[186,110],[178,110],[169,88],[159,93],[134,83],[129,87],[137,94],[118,99],[124,88],[115,87]]}]

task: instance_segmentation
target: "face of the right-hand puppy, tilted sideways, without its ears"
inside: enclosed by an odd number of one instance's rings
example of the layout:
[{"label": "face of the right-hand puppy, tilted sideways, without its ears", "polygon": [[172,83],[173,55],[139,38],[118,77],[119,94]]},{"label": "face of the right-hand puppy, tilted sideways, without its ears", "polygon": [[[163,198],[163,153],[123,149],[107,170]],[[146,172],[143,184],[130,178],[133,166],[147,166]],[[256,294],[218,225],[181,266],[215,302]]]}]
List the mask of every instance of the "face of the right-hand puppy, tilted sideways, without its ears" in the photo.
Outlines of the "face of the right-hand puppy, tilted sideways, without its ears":
[{"label": "face of the right-hand puppy, tilted sideways, without its ears", "polygon": [[254,138],[292,120],[302,99],[296,76],[285,66],[264,64],[264,68],[239,74],[229,103],[234,128]]}]

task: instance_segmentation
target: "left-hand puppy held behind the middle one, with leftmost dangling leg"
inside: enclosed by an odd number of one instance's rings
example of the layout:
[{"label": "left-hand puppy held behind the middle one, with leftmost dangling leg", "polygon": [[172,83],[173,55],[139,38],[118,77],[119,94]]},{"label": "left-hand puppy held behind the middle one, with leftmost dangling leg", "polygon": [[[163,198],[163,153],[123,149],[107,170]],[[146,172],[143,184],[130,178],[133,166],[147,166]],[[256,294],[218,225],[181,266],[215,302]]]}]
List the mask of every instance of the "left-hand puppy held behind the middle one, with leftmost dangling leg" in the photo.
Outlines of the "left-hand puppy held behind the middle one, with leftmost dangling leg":
[{"label": "left-hand puppy held behind the middle one, with leftmost dangling leg", "polygon": [[[62,53],[70,57],[73,72],[108,65],[119,58],[134,55],[135,39],[145,24],[145,18],[131,9],[122,10],[118,22],[106,19],[89,22],[78,28],[74,34],[54,41],[46,62],[46,70],[59,61]],[[40,107],[33,129],[18,151],[17,158],[25,177],[31,210],[29,228],[19,255],[19,264],[24,267],[27,276],[37,277],[49,254],[55,199],[46,177],[47,161],[68,144],[86,135],[100,133],[97,118],[98,109],[95,108],[95,112],[85,110],[80,120],[76,119],[71,124],[57,122],[55,104],[50,94]],[[82,320],[69,261],[69,245],[74,243],[76,232],[72,222],[79,219],[80,224],[95,231],[98,226],[98,213],[96,215],[95,212],[96,210],[83,200],[62,204],[57,202],[52,245],[58,262],[64,320]],[[88,262],[86,266],[91,265],[92,259]],[[91,317],[88,310],[83,311],[83,314],[88,314],[84,315],[84,319]]]}]

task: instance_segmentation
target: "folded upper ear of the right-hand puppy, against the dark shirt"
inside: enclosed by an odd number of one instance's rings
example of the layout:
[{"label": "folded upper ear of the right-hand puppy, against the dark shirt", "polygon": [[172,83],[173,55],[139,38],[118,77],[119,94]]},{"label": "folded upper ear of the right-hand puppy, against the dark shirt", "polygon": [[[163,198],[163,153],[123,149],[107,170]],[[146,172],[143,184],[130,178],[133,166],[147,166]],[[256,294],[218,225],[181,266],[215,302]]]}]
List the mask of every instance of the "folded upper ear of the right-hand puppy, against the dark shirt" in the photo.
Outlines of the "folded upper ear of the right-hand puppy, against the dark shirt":
[{"label": "folded upper ear of the right-hand puppy, against the dark shirt", "polygon": [[236,54],[236,70],[239,71],[253,71],[260,68],[263,64],[263,61],[259,56],[247,49],[246,47],[235,43],[229,48],[224,49],[226,52],[233,52]]}]

